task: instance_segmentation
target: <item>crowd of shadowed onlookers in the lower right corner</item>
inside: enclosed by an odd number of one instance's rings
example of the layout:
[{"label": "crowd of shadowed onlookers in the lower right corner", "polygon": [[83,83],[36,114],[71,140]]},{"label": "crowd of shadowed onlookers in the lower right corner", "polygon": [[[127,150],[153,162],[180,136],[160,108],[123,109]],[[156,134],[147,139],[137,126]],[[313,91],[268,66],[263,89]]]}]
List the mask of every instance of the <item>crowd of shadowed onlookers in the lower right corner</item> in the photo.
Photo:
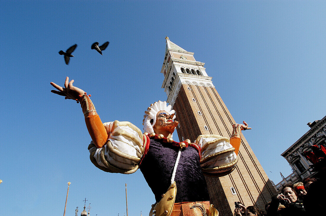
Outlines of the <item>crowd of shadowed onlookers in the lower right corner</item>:
[{"label": "crowd of shadowed onlookers in the lower right corner", "polygon": [[312,163],[311,172],[317,172],[316,178],[304,178],[302,182],[285,184],[280,194],[272,197],[265,205],[265,211],[255,206],[235,203],[234,216],[301,216],[324,215],[326,207],[326,148],[323,145],[311,146],[312,151],[304,156]]}]

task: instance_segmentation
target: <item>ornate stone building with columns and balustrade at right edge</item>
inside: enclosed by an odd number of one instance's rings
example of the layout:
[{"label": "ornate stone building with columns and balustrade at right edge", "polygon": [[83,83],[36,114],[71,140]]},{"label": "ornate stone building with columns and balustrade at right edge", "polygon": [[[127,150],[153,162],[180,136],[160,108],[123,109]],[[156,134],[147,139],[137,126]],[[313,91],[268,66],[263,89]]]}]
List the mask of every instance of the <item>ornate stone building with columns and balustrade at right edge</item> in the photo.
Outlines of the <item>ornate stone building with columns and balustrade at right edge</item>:
[{"label": "ornate stone building with columns and balustrade at right edge", "polygon": [[283,180],[275,185],[277,192],[280,192],[284,184],[293,184],[306,177],[318,175],[317,172],[311,172],[311,163],[304,158],[303,152],[311,150],[310,146],[313,145],[326,147],[326,116],[307,125],[310,127],[309,131],[281,154],[289,162],[293,172],[287,177],[282,176]]}]

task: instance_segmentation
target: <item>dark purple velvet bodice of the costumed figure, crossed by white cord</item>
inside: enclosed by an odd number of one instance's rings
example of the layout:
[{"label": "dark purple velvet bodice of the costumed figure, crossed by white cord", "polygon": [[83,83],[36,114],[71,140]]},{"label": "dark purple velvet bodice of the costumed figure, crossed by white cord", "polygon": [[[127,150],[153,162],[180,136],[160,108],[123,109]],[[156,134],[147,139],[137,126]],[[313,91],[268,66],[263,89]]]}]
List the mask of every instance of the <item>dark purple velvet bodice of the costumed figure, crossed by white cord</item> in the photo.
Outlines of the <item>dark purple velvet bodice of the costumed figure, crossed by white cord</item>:
[{"label": "dark purple velvet bodice of the costumed figure, crossed by white cord", "polygon": [[[179,147],[150,139],[140,170],[152,189],[156,202],[166,193],[170,184]],[[175,202],[209,201],[206,180],[201,171],[198,151],[189,146],[182,150],[175,179],[177,195]]]}]

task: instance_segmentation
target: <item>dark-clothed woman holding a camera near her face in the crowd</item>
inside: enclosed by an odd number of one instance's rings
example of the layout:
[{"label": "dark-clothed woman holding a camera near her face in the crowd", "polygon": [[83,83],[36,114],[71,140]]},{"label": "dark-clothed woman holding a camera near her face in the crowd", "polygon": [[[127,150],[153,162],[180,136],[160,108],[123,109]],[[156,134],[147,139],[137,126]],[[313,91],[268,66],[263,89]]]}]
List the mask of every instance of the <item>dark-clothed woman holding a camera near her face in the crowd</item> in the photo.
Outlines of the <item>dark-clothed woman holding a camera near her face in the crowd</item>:
[{"label": "dark-clothed woman holding a camera near her face in the crowd", "polygon": [[[282,187],[282,193],[272,198],[271,204],[267,211],[267,216],[288,216],[306,215],[303,208],[302,200],[298,199],[298,195],[291,184]],[[279,204],[285,206],[284,209],[278,210]]]}]

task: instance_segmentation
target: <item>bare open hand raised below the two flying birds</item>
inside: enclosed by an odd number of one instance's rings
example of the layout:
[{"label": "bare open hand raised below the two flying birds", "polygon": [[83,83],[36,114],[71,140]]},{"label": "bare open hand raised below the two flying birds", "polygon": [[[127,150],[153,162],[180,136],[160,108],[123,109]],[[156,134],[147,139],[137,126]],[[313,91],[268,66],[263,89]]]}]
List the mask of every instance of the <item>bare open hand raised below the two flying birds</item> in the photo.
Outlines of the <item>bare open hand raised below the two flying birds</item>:
[{"label": "bare open hand raised below the two flying birds", "polygon": [[54,88],[59,90],[59,91],[51,90],[51,92],[57,95],[65,96],[65,99],[72,99],[72,100],[79,99],[79,95],[83,95],[84,91],[80,88],[73,86],[72,83],[74,83],[74,80],[71,80],[69,82],[69,77],[66,77],[65,88],[51,82],[50,84]]}]

